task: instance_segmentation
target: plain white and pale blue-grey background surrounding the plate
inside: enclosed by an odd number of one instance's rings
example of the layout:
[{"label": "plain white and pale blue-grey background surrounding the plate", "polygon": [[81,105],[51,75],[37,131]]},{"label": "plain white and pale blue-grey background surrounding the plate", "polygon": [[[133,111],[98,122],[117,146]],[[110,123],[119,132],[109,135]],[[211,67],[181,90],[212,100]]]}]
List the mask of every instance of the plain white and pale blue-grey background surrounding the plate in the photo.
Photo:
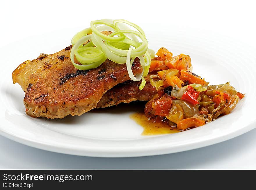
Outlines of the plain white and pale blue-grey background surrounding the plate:
[{"label": "plain white and pale blue-grey background surrounding the plate", "polygon": [[[65,32],[67,28],[76,28],[75,33],[77,28],[87,28],[91,20],[111,18],[147,23],[152,28],[157,28],[157,23],[165,23],[164,30],[170,33],[175,30],[172,26],[202,28],[255,47],[256,14],[252,2],[4,1],[0,7],[1,45],[60,29]],[[163,28],[157,30],[156,35],[161,36]],[[70,43],[70,36],[63,40]],[[0,136],[0,169],[256,169],[255,136],[256,129],[205,148],[141,158],[90,158],[51,153]]]}]

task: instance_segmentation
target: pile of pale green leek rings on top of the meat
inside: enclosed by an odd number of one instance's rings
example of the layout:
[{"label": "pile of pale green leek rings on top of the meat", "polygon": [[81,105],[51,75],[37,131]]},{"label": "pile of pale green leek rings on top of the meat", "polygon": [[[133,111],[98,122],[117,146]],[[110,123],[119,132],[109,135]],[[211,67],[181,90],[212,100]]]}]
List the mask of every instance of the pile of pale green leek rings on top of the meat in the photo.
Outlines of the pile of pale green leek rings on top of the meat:
[{"label": "pile of pale green leek rings on top of the meat", "polygon": [[[127,25],[137,31],[131,30]],[[104,35],[102,31],[113,33]],[[85,44],[88,40],[89,42]],[[144,88],[146,84],[144,77],[149,72],[151,59],[155,53],[148,49],[145,32],[136,24],[127,20],[102,19],[91,21],[90,28],[78,32],[72,38],[71,43],[73,47],[70,52],[70,59],[75,68],[79,70],[97,68],[106,59],[118,64],[126,63],[131,80],[142,80],[139,89]],[[81,65],[74,62],[74,56]],[[142,72],[134,76],[132,64],[136,57],[140,59]]]}]

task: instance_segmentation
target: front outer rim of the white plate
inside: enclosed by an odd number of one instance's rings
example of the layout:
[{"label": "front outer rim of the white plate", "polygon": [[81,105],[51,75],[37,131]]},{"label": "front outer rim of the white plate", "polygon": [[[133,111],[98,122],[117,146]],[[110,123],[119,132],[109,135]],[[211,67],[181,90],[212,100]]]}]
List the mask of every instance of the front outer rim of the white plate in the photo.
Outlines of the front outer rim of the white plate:
[{"label": "front outer rim of the white plate", "polygon": [[[171,148],[166,148],[166,147],[160,147],[158,150],[155,149],[150,149],[150,150],[132,150],[132,152],[126,151],[99,151],[99,150],[78,150],[78,149],[69,149],[65,147],[60,147],[60,146],[54,146],[51,144],[42,144],[38,143],[32,140],[24,139],[21,137],[18,137],[17,135],[12,135],[10,133],[7,133],[3,131],[0,128],[0,135],[13,140],[15,142],[31,146],[37,149],[45,150],[45,151],[50,151],[50,152],[56,152],[56,153],[63,153],[63,154],[69,154],[69,155],[77,155],[77,156],[89,156],[89,157],[100,157],[100,158],[129,158],[129,157],[141,157],[141,156],[153,156],[153,155],[164,155],[164,154],[171,154],[171,153],[177,153],[177,152],[184,152],[184,151],[189,151],[189,150],[194,150],[206,146],[210,146],[213,144],[221,143],[226,140],[230,140],[232,138],[235,138],[239,135],[242,135],[244,133],[247,133],[253,129],[256,128],[256,119],[252,121],[250,124],[246,125],[243,128],[240,128],[239,130],[233,131],[232,133],[228,133],[225,135],[221,135],[215,138],[207,139],[204,141],[199,141],[199,142],[194,142],[190,143],[190,146],[187,146],[187,144],[182,144],[178,145],[175,147]],[[191,148],[192,147],[192,148]]]}]

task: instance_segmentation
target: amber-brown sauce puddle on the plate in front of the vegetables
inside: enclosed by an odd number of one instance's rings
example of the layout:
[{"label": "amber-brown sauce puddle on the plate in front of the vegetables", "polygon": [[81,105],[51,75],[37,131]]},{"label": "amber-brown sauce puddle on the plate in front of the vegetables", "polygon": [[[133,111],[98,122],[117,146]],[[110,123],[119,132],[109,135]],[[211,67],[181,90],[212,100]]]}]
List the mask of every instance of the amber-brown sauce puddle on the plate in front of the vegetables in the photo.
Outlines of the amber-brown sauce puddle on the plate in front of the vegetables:
[{"label": "amber-brown sauce puddle on the plate in front of the vegetables", "polygon": [[142,135],[162,135],[169,133],[178,133],[179,130],[170,127],[167,123],[154,121],[145,116],[144,112],[134,113],[130,116],[137,124],[144,128]]}]

